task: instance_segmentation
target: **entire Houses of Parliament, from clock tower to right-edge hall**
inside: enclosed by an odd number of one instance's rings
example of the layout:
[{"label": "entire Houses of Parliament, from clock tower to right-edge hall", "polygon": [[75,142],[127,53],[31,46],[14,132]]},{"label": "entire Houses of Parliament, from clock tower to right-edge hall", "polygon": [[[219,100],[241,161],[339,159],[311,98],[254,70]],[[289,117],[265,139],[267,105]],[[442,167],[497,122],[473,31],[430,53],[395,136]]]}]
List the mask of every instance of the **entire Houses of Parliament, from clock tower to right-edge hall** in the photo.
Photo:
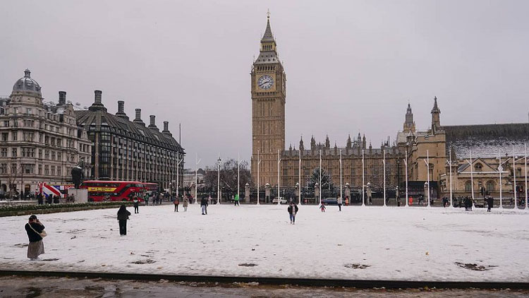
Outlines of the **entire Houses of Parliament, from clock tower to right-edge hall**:
[{"label": "entire Houses of Parliament, from clock tower to right-edge hall", "polygon": [[[345,142],[345,147],[332,145],[329,136],[325,141],[317,142],[314,137],[305,145],[300,138],[298,148],[285,147],[285,105],[286,105],[286,73],[277,53],[277,45],[272,35],[269,16],[265,34],[260,41],[260,54],[253,62],[251,75],[252,98],[252,162],[251,174],[255,186],[277,186],[278,167],[281,188],[293,187],[298,183],[305,189],[310,181],[312,172],[320,167],[320,150],[322,169],[329,174],[334,185],[340,184],[340,155],[342,161],[342,183],[351,187],[361,188],[368,182],[376,187],[384,185],[384,166],[386,172],[386,186],[394,188],[403,186],[406,181],[406,162],[408,164],[408,180],[411,184],[422,185],[430,179],[431,187],[437,196],[448,192],[447,180],[450,172],[455,179],[452,184],[454,193],[468,194],[471,187],[478,189],[487,185],[491,193],[499,189],[497,175],[494,173],[494,160],[497,155],[523,155],[523,144],[529,141],[529,124],[483,124],[470,126],[442,126],[441,109],[437,97],[432,99],[432,121],[425,131],[415,128],[411,105],[403,109],[403,126],[396,133],[393,143],[389,140],[374,148],[366,142],[365,135],[351,138]],[[494,138],[496,136],[496,138]],[[498,138],[501,136],[501,138]],[[483,144],[494,143],[494,152],[484,150]],[[513,152],[511,150],[513,145]],[[463,169],[468,159],[468,153],[474,152],[473,169],[490,171],[490,177],[475,174],[470,184],[468,169]],[[498,153],[498,154],[497,154]],[[278,157],[280,162],[278,163]],[[301,166],[299,167],[299,160]],[[384,162],[385,160],[385,162]],[[429,164],[427,165],[428,160]],[[451,160],[451,163],[449,162]],[[257,168],[259,164],[259,173]],[[497,163],[497,162],[496,162]],[[479,164],[479,165],[478,165]],[[496,166],[497,167],[497,166]],[[299,173],[301,168],[301,173]],[[518,170],[516,165],[504,169],[504,191],[509,191],[509,170]],[[497,169],[496,169],[497,171]],[[524,171],[525,172],[525,171]],[[258,178],[257,178],[258,177]],[[520,173],[521,179],[525,174]],[[520,181],[521,181],[520,179]],[[490,186],[490,187],[489,187]],[[469,189],[470,188],[470,189]]]}]

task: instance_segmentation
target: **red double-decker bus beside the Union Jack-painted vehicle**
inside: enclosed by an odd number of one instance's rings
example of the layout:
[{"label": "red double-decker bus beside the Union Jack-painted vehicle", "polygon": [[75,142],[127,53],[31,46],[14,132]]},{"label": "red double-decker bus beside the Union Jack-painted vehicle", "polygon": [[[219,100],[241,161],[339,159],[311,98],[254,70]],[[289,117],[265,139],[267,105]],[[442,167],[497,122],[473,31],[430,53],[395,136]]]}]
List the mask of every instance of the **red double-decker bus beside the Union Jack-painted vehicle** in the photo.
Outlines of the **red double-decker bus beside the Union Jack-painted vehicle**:
[{"label": "red double-decker bus beside the Union Jack-painted vehicle", "polygon": [[137,196],[140,201],[143,201],[145,191],[149,190],[140,181],[87,180],[79,188],[88,190],[88,201],[92,202],[132,201],[133,196]]}]

